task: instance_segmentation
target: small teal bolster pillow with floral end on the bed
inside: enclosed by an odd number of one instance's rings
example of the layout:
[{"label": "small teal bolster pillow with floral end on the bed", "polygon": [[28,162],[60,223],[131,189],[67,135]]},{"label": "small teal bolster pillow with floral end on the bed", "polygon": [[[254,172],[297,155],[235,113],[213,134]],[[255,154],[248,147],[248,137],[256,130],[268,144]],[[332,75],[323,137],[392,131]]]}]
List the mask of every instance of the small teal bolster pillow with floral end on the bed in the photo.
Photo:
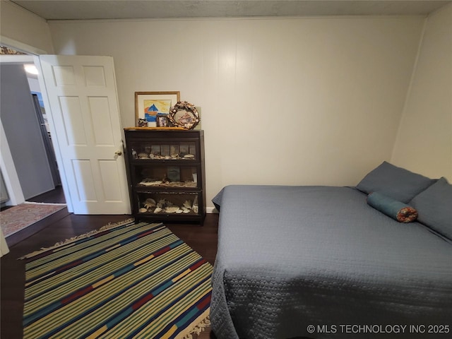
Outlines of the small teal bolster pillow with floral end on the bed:
[{"label": "small teal bolster pillow with floral end on the bed", "polygon": [[367,203],[398,222],[412,222],[417,218],[417,210],[415,208],[378,192],[369,194]]}]

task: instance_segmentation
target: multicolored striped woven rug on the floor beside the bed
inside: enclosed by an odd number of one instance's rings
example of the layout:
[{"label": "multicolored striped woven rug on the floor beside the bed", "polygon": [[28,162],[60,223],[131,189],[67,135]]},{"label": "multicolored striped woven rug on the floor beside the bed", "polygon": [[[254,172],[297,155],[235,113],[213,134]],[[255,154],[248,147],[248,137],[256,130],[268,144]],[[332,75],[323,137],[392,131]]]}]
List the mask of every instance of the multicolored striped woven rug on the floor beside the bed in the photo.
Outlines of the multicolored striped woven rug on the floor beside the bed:
[{"label": "multicolored striped woven rug on the floor beside the bed", "polygon": [[23,338],[191,338],[212,266],[162,224],[127,222],[32,254]]}]

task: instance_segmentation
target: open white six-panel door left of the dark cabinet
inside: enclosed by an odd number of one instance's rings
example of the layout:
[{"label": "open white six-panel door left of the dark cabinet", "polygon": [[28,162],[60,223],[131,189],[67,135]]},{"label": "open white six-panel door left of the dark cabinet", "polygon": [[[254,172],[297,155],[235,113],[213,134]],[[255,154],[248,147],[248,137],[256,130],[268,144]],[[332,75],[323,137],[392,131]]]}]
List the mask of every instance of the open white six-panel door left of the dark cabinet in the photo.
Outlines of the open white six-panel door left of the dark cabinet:
[{"label": "open white six-panel door left of the dark cabinet", "polygon": [[73,213],[129,214],[112,57],[41,55],[40,64]]}]

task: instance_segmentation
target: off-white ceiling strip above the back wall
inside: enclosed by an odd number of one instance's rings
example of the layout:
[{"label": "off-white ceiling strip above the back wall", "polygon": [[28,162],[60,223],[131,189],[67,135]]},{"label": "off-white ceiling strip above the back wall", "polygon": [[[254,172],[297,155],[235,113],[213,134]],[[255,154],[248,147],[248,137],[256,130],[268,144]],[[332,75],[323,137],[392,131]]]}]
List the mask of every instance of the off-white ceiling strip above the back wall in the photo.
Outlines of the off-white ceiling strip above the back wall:
[{"label": "off-white ceiling strip above the back wall", "polygon": [[400,16],[436,11],[436,0],[12,0],[47,20],[228,18],[252,16]]}]

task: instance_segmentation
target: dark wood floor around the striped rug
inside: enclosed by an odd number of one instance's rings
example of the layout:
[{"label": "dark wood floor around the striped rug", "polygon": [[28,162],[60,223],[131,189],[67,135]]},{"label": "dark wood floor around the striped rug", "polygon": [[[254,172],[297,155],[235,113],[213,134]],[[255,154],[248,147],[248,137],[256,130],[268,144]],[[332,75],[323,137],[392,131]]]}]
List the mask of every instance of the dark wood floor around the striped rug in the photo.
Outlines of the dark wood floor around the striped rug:
[{"label": "dark wood floor around the striped rug", "polygon": [[[52,199],[51,199],[52,200]],[[61,202],[61,201],[40,201]],[[50,216],[52,217],[52,216]],[[25,282],[25,262],[20,256],[36,251],[42,247],[75,237],[76,235],[97,230],[109,222],[120,222],[130,215],[73,215],[63,213],[55,218],[46,218],[35,234],[27,234],[25,239],[10,247],[10,252],[1,257],[1,326],[0,338],[22,338],[23,297]],[[204,225],[169,224],[165,225],[174,234],[191,246],[203,258],[214,263],[217,252],[218,215],[208,214]],[[24,232],[24,231],[20,231]],[[19,233],[20,233],[19,232]],[[25,231],[27,232],[27,231]],[[198,335],[198,339],[215,338],[210,328]]]}]

